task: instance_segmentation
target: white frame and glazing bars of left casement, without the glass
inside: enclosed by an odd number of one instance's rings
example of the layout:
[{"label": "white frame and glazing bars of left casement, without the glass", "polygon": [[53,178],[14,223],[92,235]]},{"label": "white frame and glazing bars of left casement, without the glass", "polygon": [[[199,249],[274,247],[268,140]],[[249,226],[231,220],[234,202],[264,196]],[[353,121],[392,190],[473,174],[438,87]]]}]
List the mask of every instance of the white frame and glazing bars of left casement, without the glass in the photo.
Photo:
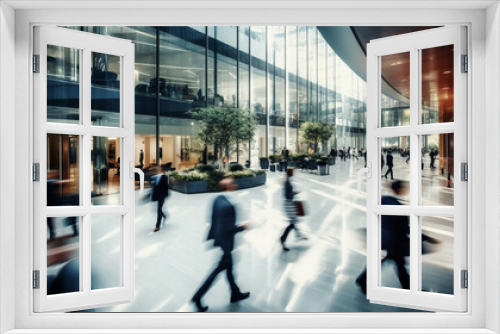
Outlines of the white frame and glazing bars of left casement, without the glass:
[{"label": "white frame and glazing bars of left casement, without the glass", "polygon": [[[34,289],[35,312],[73,311],[93,305],[120,304],[134,299],[135,277],[135,103],[134,66],[135,47],[131,41],[99,36],[64,28],[34,27],[34,52],[39,55],[39,73],[33,75],[34,84],[34,161],[39,163],[39,182],[33,185],[34,211],[34,270],[39,271],[39,289]],[[47,122],[47,46],[55,45],[77,50],[79,57],[79,123]],[[118,56],[120,59],[120,110],[117,127],[94,126],[91,115],[92,53]],[[79,138],[79,206],[47,207],[47,135],[74,135]],[[121,142],[120,203],[91,205],[91,139],[115,137]],[[80,290],[72,293],[47,295],[47,228],[48,217],[79,219],[79,278]],[[91,287],[91,228],[93,217],[115,216],[120,221],[119,285],[106,289]]]}]

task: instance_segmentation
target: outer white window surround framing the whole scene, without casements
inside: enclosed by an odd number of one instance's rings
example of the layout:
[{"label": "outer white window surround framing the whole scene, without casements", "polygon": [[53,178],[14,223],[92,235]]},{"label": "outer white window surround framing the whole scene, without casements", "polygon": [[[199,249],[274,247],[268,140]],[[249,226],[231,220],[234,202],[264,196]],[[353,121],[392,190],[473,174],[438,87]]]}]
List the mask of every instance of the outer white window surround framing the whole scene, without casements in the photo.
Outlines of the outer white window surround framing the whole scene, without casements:
[{"label": "outer white window surround framing the whole scene, without casements", "polygon": [[[11,1],[16,6],[16,1]],[[21,4],[21,3],[19,3]],[[43,5],[38,2],[38,6]],[[54,3],[52,3],[54,6]],[[33,5],[33,4],[32,4]],[[418,328],[415,332],[431,332],[429,328],[434,328],[433,333],[449,333],[464,329],[464,333],[493,333],[500,329],[498,321],[499,313],[499,246],[498,246],[498,193],[499,176],[498,162],[499,153],[496,149],[489,149],[486,156],[486,135],[489,141],[495,144],[499,142],[499,117],[497,110],[500,101],[497,92],[500,90],[500,79],[498,78],[500,63],[500,19],[498,3],[488,2],[474,4],[471,2],[461,2],[462,9],[453,9],[455,2],[446,4],[445,2],[433,2],[433,4],[424,3],[413,4],[407,9],[390,9],[396,4],[386,2],[371,3],[372,9],[364,9],[366,3],[363,2],[338,2],[333,4],[319,4],[314,2],[288,2],[275,3],[275,6],[263,8],[263,3],[254,5],[246,4],[250,9],[241,10],[245,3],[223,5],[217,3],[207,3],[189,6],[189,3],[164,4],[163,9],[152,10],[126,10],[126,9],[89,9],[95,6],[95,2],[87,2],[83,6],[87,9],[65,9],[65,10],[19,10],[15,13],[15,23],[12,21],[12,10],[5,8],[2,3],[2,25],[1,39],[3,43],[13,45],[11,41],[5,41],[5,36],[9,37],[7,28],[15,30],[15,99],[6,97],[6,93],[14,93],[11,87],[8,87],[9,80],[1,78],[0,94],[2,94],[2,106],[0,116],[2,120],[6,119],[7,107],[14,106],[16,121],[15,125],[15,155],[12,151],[4,152],[3,148],[12,145],[12,140],[1,133],[0,145],[2,145],[2,170],[13,171],[7,166],[5,159],[11,158],[15,161],[15,181],[2,178],[3,201],[9,195],[11,189],[15,191],[15,233],[11,226],[5,226],[3,219],[9,217],[3,204],[2,228],[1,232],[7,231],[8,235],[1,234],[2,245],[1,262],[2,278],[0,281],[2,298],[0,306],[1,316],[6,319],[6,325],[2,325],[2,330],[16,329],[16,333],[33,333],[23,329],[37,328],[65,328],[64,333],[69,333],[70,328],[93,328],[92,332],[100,332],[101,329],[112,328],[198,328],[192,331],[183,331],[184,333],[203,332],[201,329],[212,329],[211,332],[224,332],[220,328],[253,328],[251,332],[342,332],[342,329],[358,328],[356,332],[382,332],[388,333],[387,328],[393,328],[393,332],[410,332],[405,328]],[[405,6],[398,3],[398,6]],[[30,4],[27,4],[28,8]],[[55,4],[63,6],[62,3]],[[106,6],[106,4],[104,5]],[[109,4],[120,6],[120,4]],[[143,6],[147,6],[146,2]],[[158,4],[156,6],[159,6]],[[420,7],[419,7],[420,6]],[[425,6],[433,6],[425,7]],[[466,9],[469,6],[469,9]],[[483,7],[478,7],[483,6]],[[487,10],[487,6],[491,6]],[[217,9],[215,9],[215,8]],[[231,8],[229,8],[231,7]],[[310,9],[310,8],[313,9]],[[325,8],[326,7],[326,8]],[[338,7],[338,8],[335,8]],[[356,7],[358,7],[356,9]],[[420,9],[414,9],[415,7]],[[437,7],[437,9],[436,9]],[[451,10],[450,8],[451,7]],[[212,8],[212,9],[210,9]],[[219,9],[226,8],[226,9]],[[260,9],[259,9],[260,8]],[[344,9],[343,9],[344,8]],[[345,8],[354,8],[349,10]],[[375,9],[373,9],[375,8]],[[401,7],[399,7],[401,8]],[[412,8],[412,10],[408,10]],[[439,9],[441,8],[441,9]],[[448,8],[448,9],[447,9]],[[10,15],[5,20],[4,13]],[[105,15],[103,14],[105,13]],[[314,19],[312,19],[314,18]],[[485,22],[488,29],[485,29]],[[469,28],[469,47],[468,54],[471,59],[469,69],[471,75],[468,78],[468,86],[471,87],[468,92],[469,119],[468,119],[468,145],[470,158],[470,189],[469,198],[469,221],[472,230],[469,227],[468,247],[471,257],[469,259],[470,269],[470,288],[468,290],[469,311],[465,314],[438,313],[438,314],[33,314],[32,290],[31,290],[31,269],[32,262],[26,261],[30,254],[30,245],[32,245],[32,231],[30,222],[32,222],[32,212],[27,208],[32,207],[32,203],[26,202],[26,194],[31,193],[32,183],[31,162],[32,148],[30,142],[33,133],[32,125],[32,104],[31,99],[31,67],[30,55],[32,54],[32,36],[31,31],[34,24],[66,24],[66,25],[443,25],[443,24],[465,24]],[[12,37],[12,36],[11,36]],[[9,50],[2,48],[2,55],[7,53],[8,57],[1,57],[0,64],[2,73],[8,65],[13,66],[12,53],[9,56]],[[10,58],[9,58],[10,57]],[[485,64],[488,62],[488,72],[485,70]],[[7,70],[9,71],[9,70]],[[8,73],[13,73],[12,70]],[[486,85],[488,83],[488,85]],[[487,108],[488,107],[488,108]],[[9,110],[10,114],[12,111]],[[486,122],[488,118],[488,122]],[[28,121],[27,121],[28,120]],[[2,129],[4,126],[2,125]],[[12,132],[7,132],[12,134]],[[28,134],[28,136],[26,135]],[[10,140],[9,140],[10,139]],[[497,147],[497,146],[493,146]],[[11,164],[11,161],[9,162]],[[486,181],[485,171],[492,174]],[[13,178],[14,179],[14,178]],[[5,185],[11,187],[7,189]],[[486,197],[486,194],[490,197]],[[485,206],[491,204],[488,207]],[[488,220],[486,220],[488,217]],[[13,236],[15,235],[15,242]],[[11,240],[9,240],[9,237]],[[8,253],[8,254],[7,254]],[[14,261],[9,260],[14,253]],[[488,254],[488,266],[485,265],[485,255]],[[5,271],[5,268],[10,271]],[[13,274],[9,275],[10,272]],[[9,286],[15,280],[15,292],[7,291]],[[10,288],[12,288],[10,286]],[[486,293],[488,290],[488,293]],[[14,304],[15,311],[9,311],[6,305]],[[9,315],[14,315],[14,319],[7,319]],[[217,330],[219,328],[219,330]],[[258,330],[257,328],[269,328],[270,330]],[[279,330],[280,328],[302,328],[300,330]],[[319,330],[319,329],[331,330]],[[334,329],[339,329],[335,331]],[[379,329],[377,331],[377,328]],[[381,329],[384,328],[384,329]],[[436,329],[436,328],[441,328]],[[316,330],[315,330],[316,329]],[[364,330],[363,330],[364,329]],[[448,329],[448,330],[446,330]],[[53,330],[50,332],[54,333]],[[91,332],[91,331],[89,331]],[[102,331],[101,331],[102,332]],[[120,332],[120,331],[118,331]],[[130,331],[131,333],[133,331]],[[145,331],[137,331],[144,333]],[[175,330],[165,330],[164,332],[179,332]],[[225,332],[234,332],[226,330]],[[242,331],[243,332],[243,331]],[[248,330],[246,332],[249,332]]]}]

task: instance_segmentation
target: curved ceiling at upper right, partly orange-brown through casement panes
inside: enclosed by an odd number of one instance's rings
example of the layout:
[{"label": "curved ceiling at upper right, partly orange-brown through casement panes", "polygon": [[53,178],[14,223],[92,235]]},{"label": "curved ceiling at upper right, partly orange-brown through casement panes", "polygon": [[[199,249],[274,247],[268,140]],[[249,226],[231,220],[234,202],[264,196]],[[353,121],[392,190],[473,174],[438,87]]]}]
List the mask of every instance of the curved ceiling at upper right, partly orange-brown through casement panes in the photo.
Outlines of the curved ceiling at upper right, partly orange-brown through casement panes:
[{"label": "curved ceiling at upper right, partly orange-brown through casement panes", "polygon": [[[366,44],[370,40],[396,36],[435,26],[355,26],[318,27],[325,40],[337,54],[366,80]],[[444,46],[422,50],[422,104],[439,109],[441,117],[453,117],[453,48]],[[384,56],[382,65],[382,90],[390,97],[409,102],[410,99],[409,53]]]}]

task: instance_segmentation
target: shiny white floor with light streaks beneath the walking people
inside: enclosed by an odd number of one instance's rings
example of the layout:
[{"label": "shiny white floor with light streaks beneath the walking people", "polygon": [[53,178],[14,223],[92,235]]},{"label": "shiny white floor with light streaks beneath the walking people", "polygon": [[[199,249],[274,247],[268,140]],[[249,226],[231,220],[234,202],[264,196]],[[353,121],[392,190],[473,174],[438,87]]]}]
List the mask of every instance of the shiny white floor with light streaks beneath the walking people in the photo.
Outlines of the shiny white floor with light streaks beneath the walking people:
[{"label": "shiny white floor with light streaks beneath the walking people", "polygon": [[[404,160],[395,157],[395,172],[405,167]],[[366,199],[356,190],[356,172],[363,167],[363,160],[337,161],[331,167],[327,176],[296,173],[294,183],[301,191],[299,199],[307,203],[308,212],[299,226],[309,239],[297,240],[292,232],[289,252],[283,252],[278,242],[286,227],[282,209],[283,173],[268,173],[265,186],[232,194],[232,200],[238,204],[239,221],[250,220],[253,226],[239,234],[234,251],[236,281],[251,296],[230,304],[229,287],[225,276],[220,275],[203,300],[210,306],[209,312],[414,311],[371,304],[356,286],[354,281],[366,261],[365,236],[360,233],[366,226]],[[436,184],[441,182],[438,176],[429,178],[434,178],[432,182]],[[382,183],[389,187],[385,179]],[[449,197],[446,190],[435,191],[436,199],[446,200]],[[205,241],[214,196],[173,192],[166,203],[168,219],[159,232],[153,233],[155,205],[136,193],[135,299],[129,304],[91,311],[193,312],[189,300],[220,256]],[[427,226],[434,237],[442,240],[440,254],[445,254],[423,264],[424,272],[429,275],[427,288],[449,291],[453,230],[433,226],[432,222]],[[107,224],[92,224],[92,228],[101,228],[99,235],[103,236],[117,232]],[[105,244],[112,239],[93,242]],[[101,247],[116,249],[116,245]],[[104,266],[99,270],[106,275]],[[385,282],[398,286],[392,265],[384,268],[383,275]]]}]

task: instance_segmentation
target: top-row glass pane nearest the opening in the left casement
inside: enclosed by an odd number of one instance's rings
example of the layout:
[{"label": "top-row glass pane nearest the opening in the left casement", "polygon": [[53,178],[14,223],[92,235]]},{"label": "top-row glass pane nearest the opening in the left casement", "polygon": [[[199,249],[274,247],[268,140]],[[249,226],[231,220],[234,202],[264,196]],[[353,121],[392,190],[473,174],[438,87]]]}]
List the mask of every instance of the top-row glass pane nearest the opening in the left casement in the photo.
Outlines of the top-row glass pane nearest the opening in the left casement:
[{"label": "top-row glass pane nearest the opening in the left casement", "polygon": [[92,125],[120,126],[120,57],[92,52]]}]

